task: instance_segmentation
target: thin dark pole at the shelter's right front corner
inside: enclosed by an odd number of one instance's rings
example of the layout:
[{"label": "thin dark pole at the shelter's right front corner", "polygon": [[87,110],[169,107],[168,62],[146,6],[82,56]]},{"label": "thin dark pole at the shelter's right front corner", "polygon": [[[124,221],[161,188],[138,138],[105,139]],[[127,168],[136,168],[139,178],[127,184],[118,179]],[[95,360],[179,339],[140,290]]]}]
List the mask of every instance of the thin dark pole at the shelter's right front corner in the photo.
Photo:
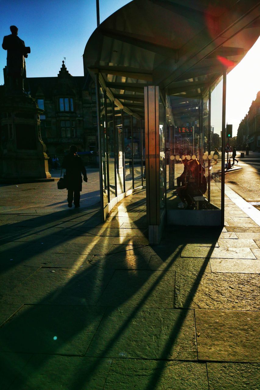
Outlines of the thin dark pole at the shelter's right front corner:
[{"label": "thin dark pole at the shelter's right front corner", "polygon": [[226,123],[226,68],[223,71],[223,97],[222,97],[222,145],[221,145],[221,225],[225,218],[225,123]]}]

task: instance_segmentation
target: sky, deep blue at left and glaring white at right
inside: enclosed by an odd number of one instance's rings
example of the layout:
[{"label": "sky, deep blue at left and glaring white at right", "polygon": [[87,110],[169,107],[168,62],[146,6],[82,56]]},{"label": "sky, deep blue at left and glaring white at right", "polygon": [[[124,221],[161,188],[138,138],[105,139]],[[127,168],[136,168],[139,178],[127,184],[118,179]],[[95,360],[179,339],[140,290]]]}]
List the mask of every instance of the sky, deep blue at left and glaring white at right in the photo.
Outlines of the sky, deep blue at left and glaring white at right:
[{"label": "sky, deep blue at left and glaring white at right", "polygon": [[[100,0],[100,22],[128,0]],[[18,35],[30,46],[27,77],[57,76],[63,57],[73,76],[83,75],[82,55],[96,28],[95,0],[0,0],[0,39],[16,25]],[[239,122],[260,90],[260,39],[227,77],[226,119],[236,134]],[[0,48],[0,85],[6,51]]]}]

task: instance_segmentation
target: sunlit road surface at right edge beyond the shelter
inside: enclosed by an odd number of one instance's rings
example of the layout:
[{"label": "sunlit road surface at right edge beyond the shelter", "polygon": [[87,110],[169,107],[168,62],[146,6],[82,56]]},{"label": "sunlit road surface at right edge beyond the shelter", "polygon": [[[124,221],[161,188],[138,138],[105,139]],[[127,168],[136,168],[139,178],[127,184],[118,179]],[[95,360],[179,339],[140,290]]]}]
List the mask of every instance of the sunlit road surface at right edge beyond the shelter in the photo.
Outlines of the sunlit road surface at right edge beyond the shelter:
[{"label": "sunlit road surface at right edge beyond the shelter", "polygon": [[[240,156],[240,153],[238,154]],[[247,202],[260,203],[260,157],[237,158],[242,169],[228,172],[225,183]],[[260,210],[260,204],[254,205]]]}]

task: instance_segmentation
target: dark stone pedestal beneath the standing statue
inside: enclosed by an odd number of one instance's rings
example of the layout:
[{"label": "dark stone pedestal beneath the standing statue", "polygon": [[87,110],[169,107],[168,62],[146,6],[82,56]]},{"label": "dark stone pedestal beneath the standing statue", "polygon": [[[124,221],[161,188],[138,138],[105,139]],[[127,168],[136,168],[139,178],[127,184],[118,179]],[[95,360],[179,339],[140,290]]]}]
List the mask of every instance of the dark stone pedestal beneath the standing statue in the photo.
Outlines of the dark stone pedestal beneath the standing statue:
[{"label": "dark stone pedestal beneath the standing statue", "polygon": [[[26,95],[2,97],[0,102],[0,179],[51,179],[46,146],[41,139],[36,101]],[[53,179],[51,179],[53,181]]]}]

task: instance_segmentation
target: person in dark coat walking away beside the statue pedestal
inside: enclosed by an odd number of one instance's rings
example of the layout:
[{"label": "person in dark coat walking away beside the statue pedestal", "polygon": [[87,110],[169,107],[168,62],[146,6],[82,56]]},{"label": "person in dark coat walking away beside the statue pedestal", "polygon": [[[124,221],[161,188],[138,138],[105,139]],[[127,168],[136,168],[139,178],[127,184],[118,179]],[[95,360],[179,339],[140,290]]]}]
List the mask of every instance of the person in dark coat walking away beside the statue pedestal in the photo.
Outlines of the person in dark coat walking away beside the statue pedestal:
[{"label": "person in dark coat walking away beside the statue pedestal", "polygon": [[80,207],[80,191],[82,191],[82,176],[87,182],[87,172],[82,162],[82,159],[77,155],[78,148],[71,145],[69,154],[64,157],[62,168],[66,169],[66,183],[68,190],[68,207]]}]

